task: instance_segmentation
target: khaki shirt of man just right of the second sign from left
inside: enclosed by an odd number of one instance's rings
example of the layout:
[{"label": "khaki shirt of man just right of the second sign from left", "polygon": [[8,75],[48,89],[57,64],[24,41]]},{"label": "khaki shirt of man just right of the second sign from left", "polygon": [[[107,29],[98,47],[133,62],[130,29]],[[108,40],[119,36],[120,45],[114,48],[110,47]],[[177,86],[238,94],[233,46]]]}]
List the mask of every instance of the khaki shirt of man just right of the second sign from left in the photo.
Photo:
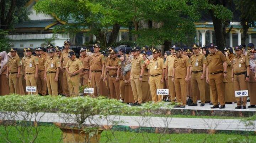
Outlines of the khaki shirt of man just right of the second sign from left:
[{"label": "khaki shirt of man just right of the second sign from left", "polygon": [[105,64],[105,57],[97,53],[97,55],[92,54],[91,60],[90,60],[90,68],[92,71],[99,71],[102,70],[102,65]]}]

